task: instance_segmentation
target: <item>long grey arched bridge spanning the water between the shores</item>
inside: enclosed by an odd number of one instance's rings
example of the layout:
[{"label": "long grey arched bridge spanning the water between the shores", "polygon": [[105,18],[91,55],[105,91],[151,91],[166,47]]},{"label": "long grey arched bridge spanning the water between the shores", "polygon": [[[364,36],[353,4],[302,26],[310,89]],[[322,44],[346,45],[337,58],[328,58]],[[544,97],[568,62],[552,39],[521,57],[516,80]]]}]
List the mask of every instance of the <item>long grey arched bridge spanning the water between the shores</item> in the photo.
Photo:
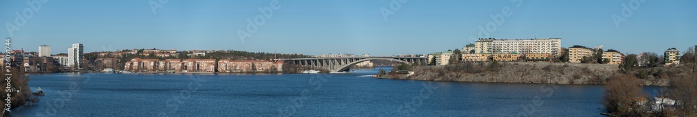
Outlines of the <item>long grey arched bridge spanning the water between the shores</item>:
[{"label": "long grey arched bridge spanning the water between the shores", "polygon": [[284,63],[293,65],[312,65],[321,67],[330,72],[346,71],[351,66],[363,61],[388,60],[401,63],[427,63],[426,58],[421,57],[396,57],[396,56],[370,56],[370,57],[339,57],[339,58],[303,58],[303,59],[283,59]]}]

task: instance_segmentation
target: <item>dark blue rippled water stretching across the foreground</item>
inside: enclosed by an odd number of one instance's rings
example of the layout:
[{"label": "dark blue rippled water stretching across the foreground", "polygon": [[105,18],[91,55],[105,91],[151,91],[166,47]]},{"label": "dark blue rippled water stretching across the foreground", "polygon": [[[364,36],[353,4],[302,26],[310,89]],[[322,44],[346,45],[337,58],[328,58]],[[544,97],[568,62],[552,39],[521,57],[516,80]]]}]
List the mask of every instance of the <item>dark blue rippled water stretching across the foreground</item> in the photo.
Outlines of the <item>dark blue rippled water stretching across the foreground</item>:
[{"label": "dark blue rippled water stretching across the foreground", "polygon": [[[318,75],[30,75],[15,116],[600,116],[602,86]],[[649,87],[652,91],[660,87]]]}]

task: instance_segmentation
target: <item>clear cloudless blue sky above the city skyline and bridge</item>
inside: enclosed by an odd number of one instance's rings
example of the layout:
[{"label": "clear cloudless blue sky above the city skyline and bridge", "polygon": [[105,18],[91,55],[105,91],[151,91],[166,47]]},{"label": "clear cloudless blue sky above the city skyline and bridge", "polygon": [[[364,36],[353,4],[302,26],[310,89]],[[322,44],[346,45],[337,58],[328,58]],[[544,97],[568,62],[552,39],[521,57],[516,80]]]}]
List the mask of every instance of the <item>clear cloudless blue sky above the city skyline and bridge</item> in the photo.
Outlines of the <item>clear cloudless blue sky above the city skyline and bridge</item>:
[{"label": "clear cloudless blue sky above the city skyline and bridge", "polygon": [[[35,1],[35,0],[29,0]],[[153,0],[158,1],[158,0]],[[385,21],[381,8],[392,0],[280,0],[281,6],[245,41],[247,19],[272,0],[169,0],[153,13],[148,0],[47,1],[13,30],[12,47],[38,51],[50,45],[65,53],[72,43],[86,52],[105,49],[235,49],[301,54],[428,54],[461,48],[477,38],[490,15],[512,14],[486,38],[562,38],[563,47],[604,45],[625,53],[662,53],[697,45],[697,1],[638,3],[622,17],[631,0],[461,1],[408,0]],[[397,1],[397,0],[395,0]],[[0,1],[0,37],[10,37],[15,13],[28,1]],[[399,1],[397,1],[399,2]],[[33,10],[32,10],[33,11]],[[16,25],[15,25],[16,26]]]}]

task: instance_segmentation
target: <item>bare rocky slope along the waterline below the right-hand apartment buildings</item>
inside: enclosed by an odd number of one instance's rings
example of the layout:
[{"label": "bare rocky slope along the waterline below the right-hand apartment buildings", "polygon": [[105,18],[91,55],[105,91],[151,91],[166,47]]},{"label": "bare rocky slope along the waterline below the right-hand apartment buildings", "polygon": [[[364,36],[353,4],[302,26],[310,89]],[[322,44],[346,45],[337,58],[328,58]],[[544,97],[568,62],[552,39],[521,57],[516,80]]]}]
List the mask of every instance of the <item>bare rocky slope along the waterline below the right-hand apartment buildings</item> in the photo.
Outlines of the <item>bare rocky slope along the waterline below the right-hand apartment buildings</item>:
[{"label": "bare rocky slope along the waterline below the right-hand apartment buildings", "polygon": [[[530,84],[605,84],[613,75],[621,75],[618,65],[583,63],[461,63],[457,65],[418,66],[414,75],[387,75],[381,79],[424,81],[464,81]],[[642,79],[645,86],[668,86],[668,79]]]}]

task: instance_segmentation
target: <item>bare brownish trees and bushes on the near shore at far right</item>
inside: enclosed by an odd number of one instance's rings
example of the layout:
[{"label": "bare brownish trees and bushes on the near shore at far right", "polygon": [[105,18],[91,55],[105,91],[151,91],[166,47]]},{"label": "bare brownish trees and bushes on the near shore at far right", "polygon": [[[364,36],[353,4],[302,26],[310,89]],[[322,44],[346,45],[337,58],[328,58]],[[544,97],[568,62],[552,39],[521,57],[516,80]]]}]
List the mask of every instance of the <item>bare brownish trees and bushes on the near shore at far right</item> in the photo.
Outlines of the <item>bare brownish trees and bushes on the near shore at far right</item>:
[{"label": "bare brownish trees and bushes on the near shore at far right", "polygon": [[[693,47],[682,55],[680,65],[657,68],[663,57],[652,53],[642,56],[629,54],[618,66],[622,74],[611,77],[605,85],[602,103],[606,111],[614,116],[697,116],[697,56]],[[659,98],[677,100],[676,104],[652,103],[656,100],[650,98],[641,86],[640,78],[650,77],[648,75],[671,79],[668,90],[657,95]]]}]

